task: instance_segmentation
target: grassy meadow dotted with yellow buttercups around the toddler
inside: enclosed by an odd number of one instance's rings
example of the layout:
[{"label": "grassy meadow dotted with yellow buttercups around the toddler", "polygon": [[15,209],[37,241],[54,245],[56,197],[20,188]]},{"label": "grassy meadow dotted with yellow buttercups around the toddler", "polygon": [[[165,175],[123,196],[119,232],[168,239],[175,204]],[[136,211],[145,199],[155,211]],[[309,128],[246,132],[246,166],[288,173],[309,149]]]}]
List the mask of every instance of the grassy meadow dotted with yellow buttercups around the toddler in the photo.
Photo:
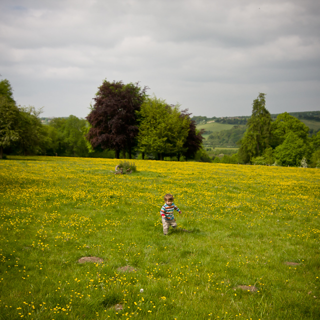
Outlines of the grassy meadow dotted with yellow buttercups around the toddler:
[{"label": "grassy meadow dotted with yellow buttercups around the toddler", "polygon": [[0,161],[0,319],[320,318],[319,169],[117,163]]}]

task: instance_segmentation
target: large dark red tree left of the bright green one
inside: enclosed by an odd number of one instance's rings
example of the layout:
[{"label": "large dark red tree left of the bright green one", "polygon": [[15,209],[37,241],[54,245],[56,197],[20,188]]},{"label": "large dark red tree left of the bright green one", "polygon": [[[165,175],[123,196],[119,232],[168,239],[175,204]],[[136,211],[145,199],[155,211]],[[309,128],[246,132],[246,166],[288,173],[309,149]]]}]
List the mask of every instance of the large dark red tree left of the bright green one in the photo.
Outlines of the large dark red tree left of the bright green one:
[{"label": "large dark red tree left of the bright green one", "polygon": [[118,159],[120,150],[131,151],[138,133],[136,111],[140,109],[147,87],[137,83],[104,80],[86,119],[90,123],[86,138],[93,148],[112,149]]}]

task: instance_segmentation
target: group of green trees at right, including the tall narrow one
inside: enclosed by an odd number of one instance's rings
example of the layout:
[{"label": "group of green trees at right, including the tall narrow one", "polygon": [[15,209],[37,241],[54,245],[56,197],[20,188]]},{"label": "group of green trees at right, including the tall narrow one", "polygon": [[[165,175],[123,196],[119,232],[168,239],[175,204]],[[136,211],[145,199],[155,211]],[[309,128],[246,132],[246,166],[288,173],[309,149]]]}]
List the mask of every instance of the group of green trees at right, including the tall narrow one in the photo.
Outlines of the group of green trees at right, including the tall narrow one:
[{"label": "group of green trees at right, including the tall narrow one", "polygon": [[272,121],[264,93],[253,100],[246,126],[239,141],[239,162],[320,167],[320,131],[309,137],[309,128],[287,112]]}]

